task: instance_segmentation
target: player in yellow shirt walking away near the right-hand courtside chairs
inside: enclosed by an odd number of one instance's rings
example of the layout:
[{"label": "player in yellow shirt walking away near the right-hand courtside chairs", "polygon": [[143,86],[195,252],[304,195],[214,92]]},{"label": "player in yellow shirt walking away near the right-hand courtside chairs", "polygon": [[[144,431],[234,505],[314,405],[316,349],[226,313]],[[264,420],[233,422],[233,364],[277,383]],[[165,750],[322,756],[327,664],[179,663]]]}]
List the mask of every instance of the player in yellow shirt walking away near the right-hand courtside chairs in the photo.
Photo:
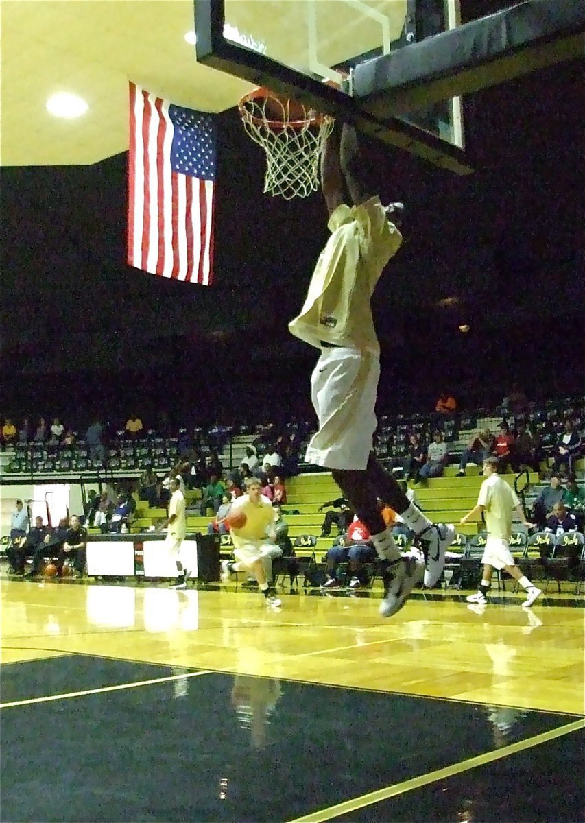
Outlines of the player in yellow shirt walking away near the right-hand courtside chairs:
[{"label": "player in yellow shirt walking away near the right-hand courtside chairs", "polygon": [[512,537],[512,514],[514,509],[527,528],[532,528],[534,523],[528,523],[522,511],[518,495],[511,486],[498,474],[498,458],[490,457],[484,460],[485,481],[481,484],[480,495],[477,504],[461,518],[462,523],[468,523],[483,512],[485,517],[485,528],[487,529],[487,540],[485,542],[484,556],[481,562],[484,565],[483,577],[476,594],[470,594],[467,602],[487,603],[487,593],[494,569],[506,570],[514,580],[527,590],[527,598],[522,606],[532,606],[536,597],[541,594],[541,589],[534,584],[518,569],[512,552],[510,551],[510,537]]}]

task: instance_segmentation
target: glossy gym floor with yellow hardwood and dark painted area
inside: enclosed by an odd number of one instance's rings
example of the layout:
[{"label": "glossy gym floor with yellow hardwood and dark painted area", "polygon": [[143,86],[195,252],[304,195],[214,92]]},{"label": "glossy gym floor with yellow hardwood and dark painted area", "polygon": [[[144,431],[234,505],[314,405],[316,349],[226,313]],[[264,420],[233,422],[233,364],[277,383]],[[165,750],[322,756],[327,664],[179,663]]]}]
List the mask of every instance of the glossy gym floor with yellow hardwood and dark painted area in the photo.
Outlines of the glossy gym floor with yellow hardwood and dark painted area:
[{"label": "glossy gym floor with yellow hardwood and dark painted area", "polygon": [[583,598],[2,580],[5,821],[582,818]]}]

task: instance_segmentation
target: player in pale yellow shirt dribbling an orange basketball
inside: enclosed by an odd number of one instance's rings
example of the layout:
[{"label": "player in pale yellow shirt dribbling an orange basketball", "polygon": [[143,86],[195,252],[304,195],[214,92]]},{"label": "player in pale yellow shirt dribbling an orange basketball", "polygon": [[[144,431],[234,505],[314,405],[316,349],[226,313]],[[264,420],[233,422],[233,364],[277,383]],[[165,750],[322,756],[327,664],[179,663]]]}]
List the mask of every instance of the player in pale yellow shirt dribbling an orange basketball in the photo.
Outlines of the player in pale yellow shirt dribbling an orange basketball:
[{"label": "player in pale yellow shirt dribbling an orange basketball", "polygon": [[234,543],[235,562],[221,561],[221,579],[227,582],[239,571],[247,571],[258,580],[260,591],[268,606],[281,606],[281,601],[270,590],[262,557],[267,547],[276,537],[276,514],[272,503],[260,493],[258,477],[247,477],[247,494],[238,497],[232,504],[225,523],[230,526]]}]

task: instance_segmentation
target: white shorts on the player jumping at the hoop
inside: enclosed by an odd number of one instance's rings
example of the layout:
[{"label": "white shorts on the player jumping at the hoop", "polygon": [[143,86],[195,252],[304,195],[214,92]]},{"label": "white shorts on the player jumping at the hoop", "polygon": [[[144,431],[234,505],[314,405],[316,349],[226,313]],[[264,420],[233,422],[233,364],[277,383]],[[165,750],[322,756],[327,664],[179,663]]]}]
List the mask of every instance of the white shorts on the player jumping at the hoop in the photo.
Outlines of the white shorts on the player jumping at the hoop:
[{"label": "white shorts on the player jumping at the hoop", "polygon": [[378,425],[374,407],[380,360],[371,351],[323,348],[311,375],[319,430],[305,460],[317,466],[364,470]]}]

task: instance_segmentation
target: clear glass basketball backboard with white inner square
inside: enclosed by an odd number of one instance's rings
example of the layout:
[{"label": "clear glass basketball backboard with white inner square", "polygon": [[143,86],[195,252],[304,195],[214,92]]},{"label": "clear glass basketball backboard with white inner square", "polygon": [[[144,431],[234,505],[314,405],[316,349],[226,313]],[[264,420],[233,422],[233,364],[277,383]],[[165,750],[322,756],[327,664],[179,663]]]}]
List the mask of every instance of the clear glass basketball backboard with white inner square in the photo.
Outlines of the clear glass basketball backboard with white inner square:
[{"label": "clear glass basketball backboard with white inner square", "polygon": [[[365,113],[367,101],[355,100],[351,81],[343,83],[355,66],[460,24],[458,0],[196,0],[197,59],[203,17],[197,16],[197,7],[209,8],[216,27],[211,50],[231,49],[233,65],[224,63],[224,70],[275,91],[281,91],[278,81],[286,86],[292,81],[297,88],[312,90],[313,96],[329,95],[326,102],[332,100],[335,108],[342,102],[336,104],[334,95],[320,92],[316,85],[333,81],[347,102],[352,98],[352,105]],[[339,114],[339,109],[327,113]],[[439,154],[441,146],[463,148],[462,105],[457,97],[401,112],[397,119],[405,124],[405,142],[416,138]],[[373,125],[371,132],[376,131]],[[394,142],[400,145],[400,138]]]}]

